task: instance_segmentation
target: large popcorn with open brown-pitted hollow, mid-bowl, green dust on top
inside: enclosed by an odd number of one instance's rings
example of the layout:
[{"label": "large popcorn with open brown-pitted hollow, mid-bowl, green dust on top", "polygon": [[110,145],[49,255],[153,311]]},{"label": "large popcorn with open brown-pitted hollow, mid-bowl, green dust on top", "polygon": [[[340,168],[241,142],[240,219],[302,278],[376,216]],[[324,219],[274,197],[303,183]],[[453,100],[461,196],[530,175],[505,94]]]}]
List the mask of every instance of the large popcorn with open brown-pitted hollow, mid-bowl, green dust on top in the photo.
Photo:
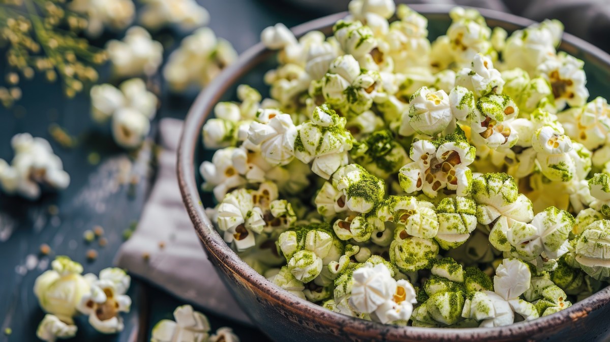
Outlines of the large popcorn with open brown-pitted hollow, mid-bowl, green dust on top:
[{"label": "large popcorn with open brown-pitted hollow, mid-bowl, green dust on top", "polygon": [[443,139],[418,140],[411,145],[409,156],[413,162],[398,173],[404,192],[422,190],[429,197],[447,188],[459,196],[470,192],[472,172],[468,165],[475,161],[475,148],[468,144],[464,132],[456,128]]}]

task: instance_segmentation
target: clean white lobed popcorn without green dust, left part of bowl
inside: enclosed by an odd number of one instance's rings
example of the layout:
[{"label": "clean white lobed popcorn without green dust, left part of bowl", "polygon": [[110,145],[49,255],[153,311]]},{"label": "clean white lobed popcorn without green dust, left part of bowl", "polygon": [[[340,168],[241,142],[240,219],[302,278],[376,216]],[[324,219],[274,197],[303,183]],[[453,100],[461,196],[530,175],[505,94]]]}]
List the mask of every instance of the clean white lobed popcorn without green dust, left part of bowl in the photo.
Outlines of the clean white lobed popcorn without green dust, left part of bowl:
[{"label": "clean white lobed popcorn without green dust, left part of bowl", "polygon": [[248,142],[260,145],[260,151],[271,165],[286,165],[295,156],[295,137],[298,134],[288,114],[270,117],[268,123],[253,122],[248,130]]}]

